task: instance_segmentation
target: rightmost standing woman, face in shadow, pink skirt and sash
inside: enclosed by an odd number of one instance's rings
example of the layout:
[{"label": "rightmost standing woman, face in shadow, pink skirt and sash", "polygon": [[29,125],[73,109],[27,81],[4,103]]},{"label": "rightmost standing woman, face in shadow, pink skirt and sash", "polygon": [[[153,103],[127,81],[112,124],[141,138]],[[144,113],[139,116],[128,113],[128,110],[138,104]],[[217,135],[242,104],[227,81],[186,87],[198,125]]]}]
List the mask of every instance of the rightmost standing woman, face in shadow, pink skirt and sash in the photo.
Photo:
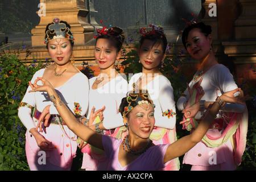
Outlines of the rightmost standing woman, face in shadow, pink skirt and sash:
[{"label": "rightmost standing woman, face in shadow, pink skirt and sash", "polygon": [[[191,130],[191,132],[204,117],[205,109],[209,104],[218,101],[223,93],[237,88],[229,69],[218,64],[214,56],[211,32],[210,26],[193,19],[191,22],[187,22],[182,34],[185,49],[193,59],[200,61],[201,67],[189,83],[188,89],[177,101],[178,109],[185,109],[187,114],[184,117],[190,120],[183,125],[184,129]],[[202,98],[197,96],[200,91],[190,91],[197,82],[200,82],[201,87],[205,90]],[[191,164],[191,170],[236,169],[236,166],[241,163],[241,157],[245,150],[246,115],[246,105],[222,104],[207,135],[185,154],[183,163]],[[193,117],[195,119],[189,119]]]}]

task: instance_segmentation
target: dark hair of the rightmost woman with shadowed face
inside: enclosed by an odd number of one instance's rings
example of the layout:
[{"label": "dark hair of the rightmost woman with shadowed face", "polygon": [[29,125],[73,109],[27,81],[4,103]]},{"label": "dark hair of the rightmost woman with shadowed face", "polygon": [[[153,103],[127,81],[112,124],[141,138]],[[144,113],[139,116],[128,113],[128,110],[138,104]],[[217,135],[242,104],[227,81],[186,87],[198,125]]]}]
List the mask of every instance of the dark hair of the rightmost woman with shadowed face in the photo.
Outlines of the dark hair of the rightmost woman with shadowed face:
[{"label": "dark hair of the rightmost woman with shadowed face", "polygon": [[188,34],[193,28],[199,28],[205,36],[208,36],[212,33],[212,27],[204,24],[203,22],[191,24],[190,26],[186,27],[182,33],[182,43],[185,49],[187,49],[186,41],[188,39]]}]

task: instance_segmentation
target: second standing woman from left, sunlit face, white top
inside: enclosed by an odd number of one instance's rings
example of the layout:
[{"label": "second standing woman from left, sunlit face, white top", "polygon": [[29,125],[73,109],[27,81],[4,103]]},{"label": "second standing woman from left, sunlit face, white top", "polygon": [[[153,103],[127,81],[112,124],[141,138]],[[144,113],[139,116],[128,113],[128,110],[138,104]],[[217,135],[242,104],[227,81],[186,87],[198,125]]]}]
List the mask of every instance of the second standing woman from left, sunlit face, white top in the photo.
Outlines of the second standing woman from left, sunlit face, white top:
[{"label": "second standing woman from left, sunlit face, white top", "polygon": [[[105,135],[114,135],[115,122],[118,120],[122,122],[121,114],[118,114],[118,106],[127,93],[128,83],[115,70],[115,62],[122,56],[121,49],[125,39],[123,34],[123,30],[119,27],[111,26],[108,29],[103,26],[102,30],[98,30],[97,35],[94,36],[96,39],[94,56],[101,72],[97,77],[89,79],[89,110],[105,108],[103,121],[100,119],[101,115],[91,126],[97,133]],[[90,113],[87,114],[87,118],[89,117]],[[87,121],[89,120],[85,121],[85,125]],[[82,152],[84,157],[81,168],[86,171],[102,171],[108,167],[108,159],[105,158],[104,151],[87,144],[82,148]]]}]

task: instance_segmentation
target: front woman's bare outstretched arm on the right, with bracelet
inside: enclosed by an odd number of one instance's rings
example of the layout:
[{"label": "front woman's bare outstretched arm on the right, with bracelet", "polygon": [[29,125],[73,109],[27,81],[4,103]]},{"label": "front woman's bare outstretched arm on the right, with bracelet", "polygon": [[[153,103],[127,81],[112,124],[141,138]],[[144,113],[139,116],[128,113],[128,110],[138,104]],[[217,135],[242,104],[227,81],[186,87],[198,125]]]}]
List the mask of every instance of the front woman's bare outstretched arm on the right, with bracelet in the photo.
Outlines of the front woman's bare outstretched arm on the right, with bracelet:
[{"label": "front woman's bare outstretched arm on the right, with bracelet", "polygon": [[[234,97],[234,93],[236,92],[241,92],[241,96]],[[244,101],[249,100],[250,98],[251,97],[249,96],[244,97],[243,91],[240,88],[232,90],[230,92],[226,92],[220,97],[220,99],[224,102],[237,103],[242,105],[244,104]],[[184,155],[185,152],[188,152],[189,150],[191,150],[192,147],[199,143],[204,135],[207,133],[219,109],[220,105],[217,102],[214,102],[212,107],[208,110],[208,113],[205,114],[203,121],[200,122],[199,126],[197,126],[192,134],[187,135],[170,144],[170,146],[168,146],[167,148],[166,155],[164,156],[164,163],[174,158],[177,158],[178,156]]]}]

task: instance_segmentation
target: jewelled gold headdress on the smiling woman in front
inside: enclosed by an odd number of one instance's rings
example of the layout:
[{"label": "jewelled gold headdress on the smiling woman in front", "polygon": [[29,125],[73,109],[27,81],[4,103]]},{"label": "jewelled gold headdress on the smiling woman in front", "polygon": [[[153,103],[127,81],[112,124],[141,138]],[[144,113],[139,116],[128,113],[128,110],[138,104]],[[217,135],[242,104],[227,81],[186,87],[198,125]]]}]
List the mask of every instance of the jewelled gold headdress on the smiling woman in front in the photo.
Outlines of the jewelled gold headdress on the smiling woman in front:
[{"label": "jewelled gold headdress on the smiling woman in front", "polygon": [[[133,90],[129,92],[126,97],[126,101],[128,103],[123,110],[123,117],[125,117],[131,110],[136,106],[141,106],[143,109],[150,109],[150,105],[155,108],[153,101],[150,98],[147,90],[138,89],[137,85],[133,84]],[[147,104],[147,105],[144,105]],[[119,108],[119,112],[121,109]]]}]

